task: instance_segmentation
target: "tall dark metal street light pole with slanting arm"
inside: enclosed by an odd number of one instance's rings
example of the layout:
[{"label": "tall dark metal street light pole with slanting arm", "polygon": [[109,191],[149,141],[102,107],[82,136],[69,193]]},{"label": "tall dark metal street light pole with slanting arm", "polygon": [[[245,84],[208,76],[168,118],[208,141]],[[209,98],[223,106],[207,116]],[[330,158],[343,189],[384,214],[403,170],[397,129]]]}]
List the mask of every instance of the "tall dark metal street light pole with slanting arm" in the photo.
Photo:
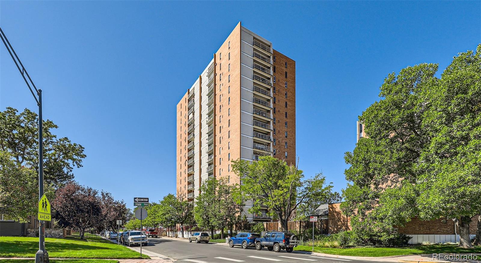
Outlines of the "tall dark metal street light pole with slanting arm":
[{"label": "tall dark metal street light pole with slanting arm", "polygon": [[[25,84],[27,84],[28,89],[30,89],[30,92],[32,93],[35,101],[37,101],[37,105],[38,105],[38,200],[40,200],[43,196],[42,90],[37,89],[37,87],[33,83],[32,79],[30,78],[30,75],[28,75],[28,72],[25,70],[25,67],[22,64],[22,61],[20,61],[20,59],[17,56],[17,53],[15,53],[15,50],[13,50],[12,45],[8,41],[7,36],[5,36],[5,33],[3,33],[3,30],[1,29],[1,27],[0,27],[0,38],[3,41],[5,48],[7,48],[8,53],[10,53],[10,56],[12,57],[13,62],[15,62],[15,65],[17,66],[18,71],[24,78]],[[33,92],[30,84],[37,92],[38,98],[37,96],[35,96],[35,93]],[[35,263],[50,262],[49,253],[47,252],[47,250],[45,250],[45,225],[42,222],[43,221],[38,221],[38,238],[39,239],[38,239],[38,251],[35,254]]]}]

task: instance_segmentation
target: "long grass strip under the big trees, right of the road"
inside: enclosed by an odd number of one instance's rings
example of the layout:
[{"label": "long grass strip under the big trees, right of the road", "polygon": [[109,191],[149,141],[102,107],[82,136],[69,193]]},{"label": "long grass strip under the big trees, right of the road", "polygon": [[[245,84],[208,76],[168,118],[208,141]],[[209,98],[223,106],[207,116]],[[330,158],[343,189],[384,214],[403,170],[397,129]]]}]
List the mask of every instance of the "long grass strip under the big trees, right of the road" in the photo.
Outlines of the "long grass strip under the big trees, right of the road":
[{"label": "long grass strip under the big trees, right of the road", "polygon": [[[312,246],[297,246],[294,248],[297,251],[312,251]],[[418,255],[418,254],[432,254],[432,253],[480,253],[481,246],[476,246],[474,249],[462,249],[457,245],[421,245],[409,246],[402,248],[323,248],[314,247],[314,252],[343,255],[343,256],[358,256],[358,257],[389,257],[400,255]]]}]

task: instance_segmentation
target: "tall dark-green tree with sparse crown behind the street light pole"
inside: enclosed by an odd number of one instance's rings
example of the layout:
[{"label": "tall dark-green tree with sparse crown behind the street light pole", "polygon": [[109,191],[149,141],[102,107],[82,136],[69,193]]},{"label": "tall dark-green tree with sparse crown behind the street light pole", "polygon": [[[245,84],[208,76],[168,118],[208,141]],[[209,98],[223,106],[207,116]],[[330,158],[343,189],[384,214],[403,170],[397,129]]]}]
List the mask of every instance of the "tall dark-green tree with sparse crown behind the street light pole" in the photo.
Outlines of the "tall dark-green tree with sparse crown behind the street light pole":
[{"label": "tall dark-green tree with sparse crown behind the street light pole", "polygon": [[[20,114],[14,108],[0,112],[0,150],[12,155],[18,165],[38,173],[38,115],[25,109]],[[55,188],[74,178],[73,168],[82,167],[86,157],[84,147],[71,143],[67,137],[52,133],[58,128],[51,120],[43,121],[44,180]]]}]

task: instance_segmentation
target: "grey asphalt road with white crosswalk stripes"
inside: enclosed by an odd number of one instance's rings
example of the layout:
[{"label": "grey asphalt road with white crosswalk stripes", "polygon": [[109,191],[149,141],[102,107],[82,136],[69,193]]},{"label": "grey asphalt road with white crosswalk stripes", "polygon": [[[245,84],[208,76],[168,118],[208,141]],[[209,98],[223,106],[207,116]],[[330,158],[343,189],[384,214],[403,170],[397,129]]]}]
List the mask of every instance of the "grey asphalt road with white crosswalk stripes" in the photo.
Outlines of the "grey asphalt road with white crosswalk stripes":
[{"label": "grey asphalt road with white crosswalk stripes", "polygon": [[[310,253],[291,253],[281,250],[276,253],[266,248],[261,251],[250,247],[247,250],[241,247],[230,248],[228,245],[214,243],[189,243],[186,241],[172,240],[165,238],[149,238],[149,246],[142,247],[142,250],[152,251],[173,259],[178,263],[366,263],[367,261],[345,260],[329,257],[311,255]],[[372,262],[370,262],[372,263]]]}]

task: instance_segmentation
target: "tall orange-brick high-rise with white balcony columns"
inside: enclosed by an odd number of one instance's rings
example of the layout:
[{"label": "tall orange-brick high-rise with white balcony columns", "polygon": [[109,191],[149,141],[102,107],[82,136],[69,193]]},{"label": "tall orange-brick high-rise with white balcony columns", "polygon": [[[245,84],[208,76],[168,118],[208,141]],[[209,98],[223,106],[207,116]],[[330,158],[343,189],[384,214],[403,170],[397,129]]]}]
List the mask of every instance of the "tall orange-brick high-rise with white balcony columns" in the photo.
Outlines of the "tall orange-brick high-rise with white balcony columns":
[{"label": "tall orange-brick high-rise with white balcony columns", "polygon": [[[194,201],[209,177],[239,183],[239,158],[294,164],[295,75],[294,60],[239,22],[177,104],[177,192]],[[270,220],[248,208],[249,221]]]}]

